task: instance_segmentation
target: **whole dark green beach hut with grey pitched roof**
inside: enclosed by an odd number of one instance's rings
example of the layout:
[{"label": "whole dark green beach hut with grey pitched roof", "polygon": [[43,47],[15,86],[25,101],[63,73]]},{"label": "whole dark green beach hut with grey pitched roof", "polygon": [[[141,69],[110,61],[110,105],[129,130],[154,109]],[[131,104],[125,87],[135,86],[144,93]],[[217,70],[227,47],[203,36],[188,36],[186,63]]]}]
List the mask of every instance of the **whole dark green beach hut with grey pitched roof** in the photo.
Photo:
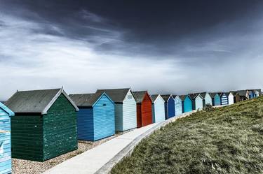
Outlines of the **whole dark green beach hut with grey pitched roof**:
[{"label": "whole dark green beach hut with grey pitched roof", "polygon": [[6,101],[11,117],[12,157],[45,161],[76,150],[76,111],[63,89],[16,92]]}]

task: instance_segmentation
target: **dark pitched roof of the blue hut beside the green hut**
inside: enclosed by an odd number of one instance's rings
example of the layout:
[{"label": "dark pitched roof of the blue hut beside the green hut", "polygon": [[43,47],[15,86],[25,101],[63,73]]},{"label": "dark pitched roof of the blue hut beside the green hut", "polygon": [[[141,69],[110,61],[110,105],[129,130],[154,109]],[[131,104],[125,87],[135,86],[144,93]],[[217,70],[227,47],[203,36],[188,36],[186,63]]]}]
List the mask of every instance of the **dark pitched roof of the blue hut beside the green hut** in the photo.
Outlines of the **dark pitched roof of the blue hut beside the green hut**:
[{"label": "dark pitched roof of the blue hut beside the green hut", "polygon": [[69,97],[76,103],[78,107],[92,107],[104,92],[96,92],[94,94],[69,94]]}]

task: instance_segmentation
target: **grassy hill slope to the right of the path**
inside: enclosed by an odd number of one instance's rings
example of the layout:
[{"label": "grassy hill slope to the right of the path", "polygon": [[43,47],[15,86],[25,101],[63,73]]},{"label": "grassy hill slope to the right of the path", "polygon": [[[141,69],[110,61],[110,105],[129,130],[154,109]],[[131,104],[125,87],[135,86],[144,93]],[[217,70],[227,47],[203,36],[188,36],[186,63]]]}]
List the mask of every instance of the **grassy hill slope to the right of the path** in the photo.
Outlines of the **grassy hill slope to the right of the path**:
[{"label": "grassy hill slope to the right of the path", "polygon": [[263,173],[263,97],[168,124],[112,173]]}]

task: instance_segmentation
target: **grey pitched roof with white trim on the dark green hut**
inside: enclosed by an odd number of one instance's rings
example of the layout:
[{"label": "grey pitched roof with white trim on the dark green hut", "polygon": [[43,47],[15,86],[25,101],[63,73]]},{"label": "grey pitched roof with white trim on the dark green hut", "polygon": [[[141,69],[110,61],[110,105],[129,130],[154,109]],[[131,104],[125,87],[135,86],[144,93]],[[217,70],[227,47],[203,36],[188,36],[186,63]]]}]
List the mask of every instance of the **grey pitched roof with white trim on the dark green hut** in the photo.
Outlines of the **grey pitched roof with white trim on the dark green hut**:
[{"label": "grey pitched roof with white trim on the dark green hut", "polygon": [[75,110],[79,108],[63,89],[42,89],[33,91],[16,92],[6,101],[6,106],[14,113],[41,113],[47,114],[48,109],[63,94],[67,100],[74,106]]}]

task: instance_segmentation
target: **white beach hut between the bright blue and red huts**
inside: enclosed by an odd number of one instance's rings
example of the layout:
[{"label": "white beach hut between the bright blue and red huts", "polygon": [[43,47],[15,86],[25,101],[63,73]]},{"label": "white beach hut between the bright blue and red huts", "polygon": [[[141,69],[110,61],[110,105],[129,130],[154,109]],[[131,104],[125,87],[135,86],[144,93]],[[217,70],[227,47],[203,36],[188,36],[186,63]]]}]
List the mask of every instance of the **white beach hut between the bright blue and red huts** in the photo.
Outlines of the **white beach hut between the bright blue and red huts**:
[{"label": "white beach hut between the bright blue and red huts", "polygon": [[137,127],[136,101],[130,88],[98,89],[115,103],[115,131],[127,131]]}]

